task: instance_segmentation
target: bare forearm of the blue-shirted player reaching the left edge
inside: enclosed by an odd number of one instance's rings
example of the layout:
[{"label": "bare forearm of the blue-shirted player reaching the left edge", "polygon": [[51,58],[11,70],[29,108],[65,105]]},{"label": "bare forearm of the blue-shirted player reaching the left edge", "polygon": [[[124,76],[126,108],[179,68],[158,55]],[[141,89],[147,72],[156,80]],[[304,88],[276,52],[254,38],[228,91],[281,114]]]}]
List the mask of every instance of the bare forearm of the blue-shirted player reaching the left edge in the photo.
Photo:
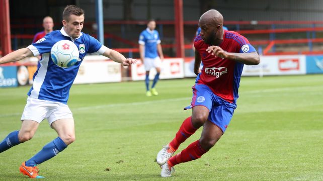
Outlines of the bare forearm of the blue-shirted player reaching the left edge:
[{"label": "bare forearm of the blue-shirted player reaching the left edge", "polygon": [[34,56],[30,49],[21,48],[0,58],[0,64],[19,61],[30,56]]}]

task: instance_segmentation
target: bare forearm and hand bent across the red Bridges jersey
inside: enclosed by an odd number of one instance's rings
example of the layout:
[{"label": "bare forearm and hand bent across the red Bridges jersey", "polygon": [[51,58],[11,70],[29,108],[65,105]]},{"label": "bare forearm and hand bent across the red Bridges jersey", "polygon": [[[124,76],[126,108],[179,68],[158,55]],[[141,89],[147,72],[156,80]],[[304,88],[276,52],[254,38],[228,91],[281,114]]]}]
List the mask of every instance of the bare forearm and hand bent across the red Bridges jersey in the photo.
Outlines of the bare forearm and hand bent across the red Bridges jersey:
[{"label": "bare forearm and hand bent across the red Bridges jersey", "polygon": [[206,51],[215,55],[216,57],[227,58],[230,60],[237,61],[239,63],[244,63],[246,65],[258,65],[260,58],[257,52],[251,53],[232,53],[225,52],[219,46],[209,46]]}]

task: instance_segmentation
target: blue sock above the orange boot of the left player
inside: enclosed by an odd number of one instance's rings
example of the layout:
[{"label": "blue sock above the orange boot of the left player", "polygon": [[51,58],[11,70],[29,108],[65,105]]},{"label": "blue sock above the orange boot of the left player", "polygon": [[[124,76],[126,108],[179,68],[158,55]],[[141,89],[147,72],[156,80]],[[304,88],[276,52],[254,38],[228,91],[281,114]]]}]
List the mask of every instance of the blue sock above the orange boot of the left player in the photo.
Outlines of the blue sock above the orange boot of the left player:
[{"label": "blue sock above the orange boot of the left player", "polygon": [[43,147],[37,154],[32,158],[26,161],[26,166],[35,166],[38,165],[50,158],[56,156],[59,152],[63,151],[67,145],[63,142],[60,137],[57,137],[53,141],[49,142]]}]

